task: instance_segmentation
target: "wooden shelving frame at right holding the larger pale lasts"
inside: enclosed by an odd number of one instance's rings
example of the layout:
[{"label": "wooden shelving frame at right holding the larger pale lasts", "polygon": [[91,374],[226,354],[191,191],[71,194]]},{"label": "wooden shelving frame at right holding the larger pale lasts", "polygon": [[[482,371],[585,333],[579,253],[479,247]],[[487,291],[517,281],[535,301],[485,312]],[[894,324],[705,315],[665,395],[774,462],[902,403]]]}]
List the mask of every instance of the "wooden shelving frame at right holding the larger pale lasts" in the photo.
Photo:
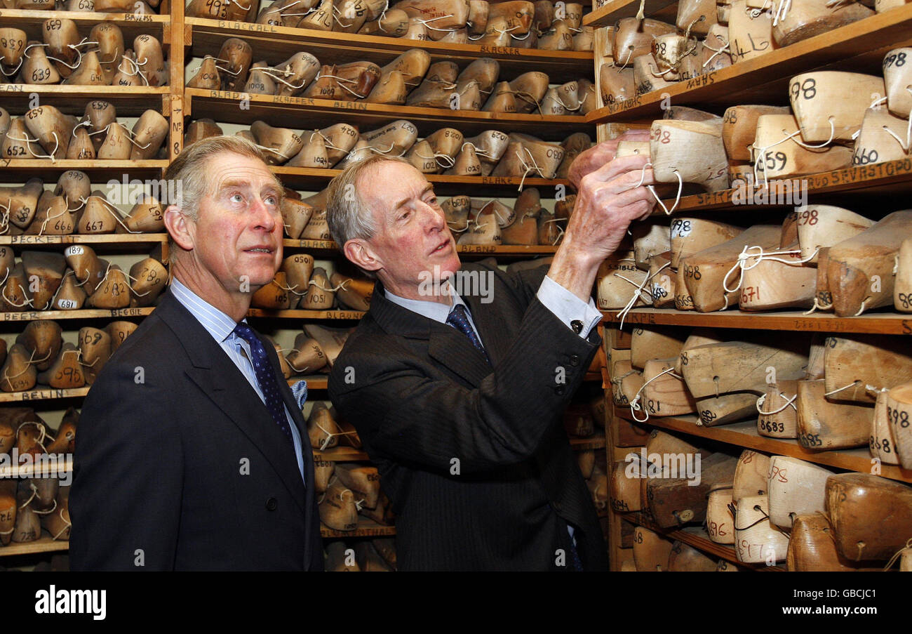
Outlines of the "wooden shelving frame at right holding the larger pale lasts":
[{"label": "wooden shelving frame at right holding the larger pale lasts", "polygon": [[[646,0],[646,16],[673,22],[676,3],[665,0]],[[584,22],[592,25],[611,25],[622,17],[633,16],[639,8],[639,0],[609,0],[586,16]],[[671,16],[671,19],[668,19]],[[599,46],[599,32],[596,30],[596,50]],[[590,112],[586,119],[599,125],[599,139],[617,136],[627,127],[648,126],[650,120],[662,118],[663,99],[670,99],[675,106],[689,106],[722,114],[724,109],[738,104],[762,103],[784,105],[788,103],[789,80],[800,73],[813,70],[843,70],[881,75],[881,65],[886,52],[895,47],[912,44],[912,5],[903,5],[882,14],[869,16],[854,24],[833,29],[820,36],[814,36],[788,47],[774,49],[760,57],[741,60],[728,68],[721,68],[697,78],[663,87],[660,90],[637,95],[625,101],[603,104]],[[596,59],[596,72],[600,60]],[[666,100],[664,103],[668,103]],[[806,182],[810,203],[831,203],[850,209],[865,210],[862,213],[879,217],[894,209],[906,207],[908,192],[912,187],[912,161],[888,161],[860,167],[814,173],[800,176]],[[739,183],[740,184],[740,183]],[[732,187],[720,192],[705,192],[685,195],[675,209],[676,216],[694,214],[699,217],[719,219],[734,224],[751,224],[763,221],[749,221],[745,215],[769,215],[781,218],[786,211],[792,211],[791,201],[776,200],[776,182],[762,187]],[[764,202],[765,194],[765,202]],[[872,200],[883,201],[872,211]],[[746,203],[745,203],[746,202]],[[671,208],[673,200],[665,201]],[[856,205],[856,206],[853,206]],[[878,215],[879,213],[879,215]],[[664,217],[661,209],[655,215]],[[775,222],[772,220],[771,222]],[[617,328],[620,322],[618,311],[604,311],[603,325]],[[769,331],[771,338],[776,332],[793,331],[809,333],[852,333],[902,336],[912,334],[912,316],[881,309],[859,317],[835,317],[832,313],[814,312],[805,315],[798,310],[768,311],[751,313],[737,307],[714,313],[680,311],[674,309],[636,308],[624,320],[625,331],[630,327],[683,327],[684,331],[695,327],[746,329]],[[629,327],[627,325],[630,325]],[[628,345],[620,348],[628,348]],[[605,372],[608,387],[608,372]],[[611,400],[610,390],[607,399]],[[642,415],[639,415],[642,417]],[[618,424],[632,421],[628,408],[612,407],[607,412],[606,442],[609,462],[614,452],[624,449],[618,446]],[[774,439],[761,436],[756,420],[736,422],[727,425],[704,427],[697,416],[655,417],[645,423],[634,423],[638,428],[661,429],[685,434],[698,445],[701,441],[720,442],[731,448],[747,448],[767,454],[793,456],[802,460],[826,465],[836,470],[870,473],[871,456],[866,447],[831,451],[810,452],[796,440]],[[645,438],[645,436],[644,436]],[[630,451],[638,451],[631,447]],[[912,483],[912,472],[893,465],[880,465],[880,475],[892,480]],[[629,560],[629,551],[620,548],[621,521],[644,525],[679,539],[710,556],[720,557],[738,566],[756,569],[783,569],[784,566],[751,566],[737,561],[733,549],[711,542],[699,528],[684,528],[676,531],[662,531],[640,514],[621,514],[609,511],[608,524],[611,533],[609,545],[612,570],[619,570],[621,563]]]}]

